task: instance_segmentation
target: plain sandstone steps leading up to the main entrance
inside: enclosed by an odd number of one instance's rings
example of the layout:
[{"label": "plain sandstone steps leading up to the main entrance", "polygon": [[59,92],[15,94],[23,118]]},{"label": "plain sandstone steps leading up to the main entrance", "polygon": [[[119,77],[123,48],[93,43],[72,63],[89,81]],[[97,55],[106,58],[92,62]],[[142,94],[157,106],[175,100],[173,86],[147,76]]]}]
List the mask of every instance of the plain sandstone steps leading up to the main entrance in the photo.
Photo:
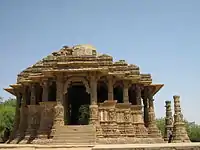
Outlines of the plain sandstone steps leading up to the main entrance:
[{"label": "plain sandstone steps leading up to the main entrance", "polygon": [[64,126],[57,129],[53,144],[94,144],[95,128],[92,125]]}]

